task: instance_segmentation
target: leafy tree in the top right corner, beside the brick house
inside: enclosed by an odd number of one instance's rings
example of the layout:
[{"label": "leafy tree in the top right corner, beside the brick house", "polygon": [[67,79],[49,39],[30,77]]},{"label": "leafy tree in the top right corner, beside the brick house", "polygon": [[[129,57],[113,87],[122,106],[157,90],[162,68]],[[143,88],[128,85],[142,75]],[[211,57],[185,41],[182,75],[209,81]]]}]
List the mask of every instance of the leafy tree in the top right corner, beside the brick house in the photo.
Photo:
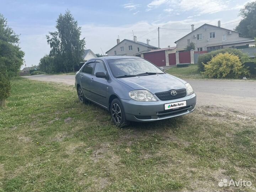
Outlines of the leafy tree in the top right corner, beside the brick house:
[{"label": "leafy tree in the top right corner, beside the brick house", "polygon": [[238,14],[243,19],[236,26],[235,31],[245,37],[256,37],[256,1],[248,2]]}]

